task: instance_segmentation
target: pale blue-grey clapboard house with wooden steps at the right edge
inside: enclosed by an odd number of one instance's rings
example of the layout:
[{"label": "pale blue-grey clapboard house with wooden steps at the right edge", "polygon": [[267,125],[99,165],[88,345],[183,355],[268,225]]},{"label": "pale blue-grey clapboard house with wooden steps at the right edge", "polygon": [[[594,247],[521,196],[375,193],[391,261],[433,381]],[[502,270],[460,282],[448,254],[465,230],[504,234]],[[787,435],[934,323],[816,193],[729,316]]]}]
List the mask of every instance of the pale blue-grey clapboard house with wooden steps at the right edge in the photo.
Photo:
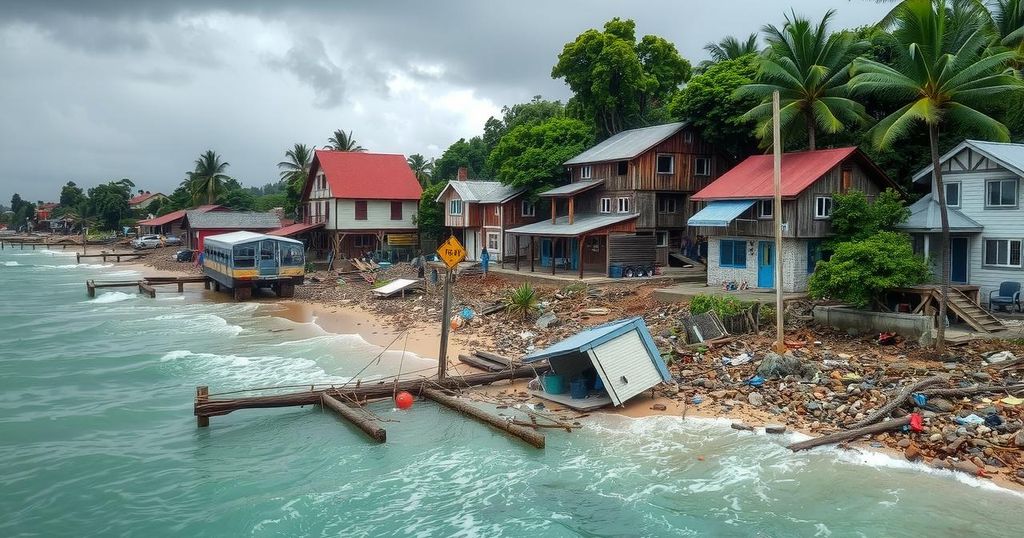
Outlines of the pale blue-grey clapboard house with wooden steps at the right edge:
[{"label": "pale blue-grey clapboard house with wooden steps at the right edge", "polygon": [[[1024,283],[1024,144],[964,140],[940,159],[949,217],[949,276],[952,284],[980,288],[982,302],[1002,282]],[[929,193],[910,206],[900,224],[914,238],[914,249],[940,267],[941,223],[932,167],[913,176]]]}]

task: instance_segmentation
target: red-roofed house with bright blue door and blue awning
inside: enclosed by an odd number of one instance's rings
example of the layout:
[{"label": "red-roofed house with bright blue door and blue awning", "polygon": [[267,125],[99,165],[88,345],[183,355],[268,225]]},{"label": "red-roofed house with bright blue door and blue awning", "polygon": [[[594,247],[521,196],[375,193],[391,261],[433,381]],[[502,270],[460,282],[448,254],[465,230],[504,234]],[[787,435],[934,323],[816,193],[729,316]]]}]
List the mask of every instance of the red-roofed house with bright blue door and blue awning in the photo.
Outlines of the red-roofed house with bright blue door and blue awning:
[{"label": "red-roofed house with bright blue door and blue awning", "polygon": [[857,148],[782,156],[782,252],[775,252],[771,155],[756,155],[701,189],[705,204],[687,223],[708,238],[708,284],[774,288],[782,263],[782,291],[807,290],[831,234],[833,196],[861,191],[868,199],[899,188]]}]

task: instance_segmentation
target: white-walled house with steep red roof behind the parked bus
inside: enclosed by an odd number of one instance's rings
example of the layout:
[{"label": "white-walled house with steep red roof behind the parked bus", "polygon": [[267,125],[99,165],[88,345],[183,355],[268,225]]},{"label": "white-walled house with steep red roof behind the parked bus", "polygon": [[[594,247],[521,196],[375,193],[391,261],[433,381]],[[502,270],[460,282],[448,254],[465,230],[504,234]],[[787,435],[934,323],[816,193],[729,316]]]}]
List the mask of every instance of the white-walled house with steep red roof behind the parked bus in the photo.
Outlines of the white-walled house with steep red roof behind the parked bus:
[{"label": "white-walled house with steep red roof behind the parked bus", "polygon": [[421,194],[404,156],[316,150],[302,190],[299,221],[288,235],[308,234],[308,248],[333,251],[337,257],[378,251],[409,256],[419,246]]}]

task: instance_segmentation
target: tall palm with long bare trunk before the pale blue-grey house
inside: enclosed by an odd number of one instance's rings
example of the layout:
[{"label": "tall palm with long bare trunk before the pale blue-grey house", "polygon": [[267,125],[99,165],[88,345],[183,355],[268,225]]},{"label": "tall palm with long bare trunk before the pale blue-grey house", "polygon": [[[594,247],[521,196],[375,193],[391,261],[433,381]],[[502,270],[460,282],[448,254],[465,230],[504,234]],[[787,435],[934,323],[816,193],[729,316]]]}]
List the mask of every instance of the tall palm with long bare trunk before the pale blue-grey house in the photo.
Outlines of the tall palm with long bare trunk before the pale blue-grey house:
[{"label": "tall palm with long bare trunk before the pale blue-grey house", "polygon": [[[954,0],[955,1],[955,0]],[[900,99],[905,105],[882,119],[869,134],[876,147],[892,148],[914,125],[928,127],[934,192],[939,203],[942,241],[942,300],[939,302],[939,353],[945,346],[946,296],[949,292],[949,218],[939,167],[939,130],[946,122],[977,131],[988,139],[1009,140],[1005,125],[981,112],[1022,89],[1009,74],[1016,52],[986,55],[990,35],[982,17],[955,16],[946,0],[904,0],[893,10],[894,66],[858,58],[850,80],[852,91]]]}]

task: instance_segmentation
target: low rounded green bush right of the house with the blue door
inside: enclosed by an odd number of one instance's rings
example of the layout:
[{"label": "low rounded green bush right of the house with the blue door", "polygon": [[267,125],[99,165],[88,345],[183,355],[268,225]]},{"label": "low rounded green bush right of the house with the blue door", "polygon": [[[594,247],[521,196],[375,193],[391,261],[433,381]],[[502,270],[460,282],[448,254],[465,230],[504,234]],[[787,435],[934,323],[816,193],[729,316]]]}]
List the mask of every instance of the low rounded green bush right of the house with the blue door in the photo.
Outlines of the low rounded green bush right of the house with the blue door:
[{"label": "low rounded green bush right of the house with the blue door", "polygon": [[816,299],[863,307],[886,289],[916,286],[930,277],[928,263],[914,255],[906,234],[880,232],[838,244],[831,259],[818,262],[809,291]]}]

